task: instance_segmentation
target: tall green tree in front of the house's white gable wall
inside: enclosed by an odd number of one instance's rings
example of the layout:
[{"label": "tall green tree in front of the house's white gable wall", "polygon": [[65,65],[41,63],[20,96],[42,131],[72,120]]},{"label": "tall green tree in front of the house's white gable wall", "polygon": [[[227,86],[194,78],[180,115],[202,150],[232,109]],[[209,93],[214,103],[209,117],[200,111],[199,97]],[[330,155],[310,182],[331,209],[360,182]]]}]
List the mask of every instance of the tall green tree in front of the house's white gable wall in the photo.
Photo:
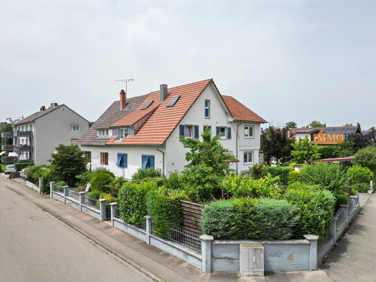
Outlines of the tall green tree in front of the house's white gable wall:
[{"label": "tall green tree in front of the house's white gable wall", "polygon": [[182,177],[183,189],[190,200],[204,202],[211,200],[220,189],[220,184],[226,173],[233,170],[226,161],[235,161],[233,155],[222,147],[220,136],[211,136],[211,130],[206,127],[201,134],[203,141],[193,138],[180,139],[186,153],[186,164]]}]

